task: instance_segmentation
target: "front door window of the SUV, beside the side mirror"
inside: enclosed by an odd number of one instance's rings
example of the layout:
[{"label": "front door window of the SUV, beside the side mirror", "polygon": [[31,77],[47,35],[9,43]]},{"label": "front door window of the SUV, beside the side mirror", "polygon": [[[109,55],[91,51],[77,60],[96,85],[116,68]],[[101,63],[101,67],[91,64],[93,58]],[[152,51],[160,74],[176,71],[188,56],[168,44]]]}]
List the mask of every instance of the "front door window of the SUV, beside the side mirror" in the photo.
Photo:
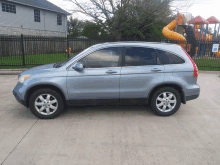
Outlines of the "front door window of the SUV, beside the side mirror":
[{"label": "front door window of the SUV, beside the side mirror", "polygon": [[95,51],[79,62],[85,65],[85,68],[105,68],[105,67],[117,67],[119,61],[119,55],[123,48],[112,47]]}]

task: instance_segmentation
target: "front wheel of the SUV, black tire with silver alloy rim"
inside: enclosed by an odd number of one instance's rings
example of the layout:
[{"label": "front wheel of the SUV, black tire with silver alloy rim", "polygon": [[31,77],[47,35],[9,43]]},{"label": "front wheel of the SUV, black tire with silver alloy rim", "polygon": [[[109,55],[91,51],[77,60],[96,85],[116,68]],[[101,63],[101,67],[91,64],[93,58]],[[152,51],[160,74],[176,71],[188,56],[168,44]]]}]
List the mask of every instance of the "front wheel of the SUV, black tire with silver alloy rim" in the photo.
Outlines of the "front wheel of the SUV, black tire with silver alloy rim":
[{"label": "front wheel of the SUV, black tire with silver alloy rim", "polygon": [[64,109],[62,97],[49,88],[36,90],[29,99],[29,107],[31,112],[40,119],[56,118]]}]

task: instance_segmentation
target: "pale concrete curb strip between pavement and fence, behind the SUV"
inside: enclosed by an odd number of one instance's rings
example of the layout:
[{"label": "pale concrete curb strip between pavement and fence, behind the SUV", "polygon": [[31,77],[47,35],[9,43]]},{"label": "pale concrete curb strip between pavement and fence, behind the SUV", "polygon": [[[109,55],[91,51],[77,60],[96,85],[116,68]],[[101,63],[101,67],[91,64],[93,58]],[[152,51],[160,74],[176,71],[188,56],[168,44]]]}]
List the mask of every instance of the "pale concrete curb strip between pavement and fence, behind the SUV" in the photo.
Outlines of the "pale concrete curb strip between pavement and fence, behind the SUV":
[{"label": "pale concrete curb strip between pavement and fence, behind the SUV", "polygon": [[[0,69],[0,75],[19,75],[21,72],[27,70],[28,68],[24,69]],[[199,70],[199,73],[214,73],[214,74],[219,74],[220,71],[204,71],[204,70]]]}]

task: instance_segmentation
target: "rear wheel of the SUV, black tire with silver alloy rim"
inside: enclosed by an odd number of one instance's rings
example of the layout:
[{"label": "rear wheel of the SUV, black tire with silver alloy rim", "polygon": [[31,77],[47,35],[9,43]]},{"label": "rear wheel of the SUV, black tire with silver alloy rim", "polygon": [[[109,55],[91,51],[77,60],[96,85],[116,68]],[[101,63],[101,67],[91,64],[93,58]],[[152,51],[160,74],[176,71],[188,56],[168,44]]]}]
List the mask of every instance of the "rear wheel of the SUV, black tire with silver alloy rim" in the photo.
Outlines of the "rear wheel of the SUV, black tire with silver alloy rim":
[{"label": "rear wheel of the SUV, black tire with silver alloy rim", "polygon": [[[164,97],[163,93],[165,93],[166,97]],[[170,96],[171,94],[172,96]],[[168,98],[169,96],[171,97],[170,100],[163,100],[163,98]],[[158,116],[170,116],[178,111],[180,105],[180,94],[176,89],[171,87],[164,87],[157,90],[151,99],[151,109]],[[165,109],[163,109],[164,106],[166,107]]]}]

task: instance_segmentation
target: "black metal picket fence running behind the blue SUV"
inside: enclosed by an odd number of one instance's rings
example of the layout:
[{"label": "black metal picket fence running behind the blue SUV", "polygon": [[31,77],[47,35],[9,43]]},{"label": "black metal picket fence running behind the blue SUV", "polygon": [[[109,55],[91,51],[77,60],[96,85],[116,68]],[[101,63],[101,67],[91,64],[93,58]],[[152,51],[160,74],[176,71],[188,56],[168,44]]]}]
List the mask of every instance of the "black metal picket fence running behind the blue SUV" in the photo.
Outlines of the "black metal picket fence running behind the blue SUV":
[{"label": "black metal picket fence running behind the blue SUV", "polygon": [[[35,66],[64,61],[94,44],[113,40],[93,40],[69,37],[0,36],[1,66]],[[148,42],[179,44],[188,51],[198,67],[220,68],[220,57],[212,53],[211,41],[189,43],[169,39],[151,39]],[[189,45],[190,44],[190,45]],[[189,48],[190,47],[190,48]],[[66,50],[68,50],[66,52]]]}]

